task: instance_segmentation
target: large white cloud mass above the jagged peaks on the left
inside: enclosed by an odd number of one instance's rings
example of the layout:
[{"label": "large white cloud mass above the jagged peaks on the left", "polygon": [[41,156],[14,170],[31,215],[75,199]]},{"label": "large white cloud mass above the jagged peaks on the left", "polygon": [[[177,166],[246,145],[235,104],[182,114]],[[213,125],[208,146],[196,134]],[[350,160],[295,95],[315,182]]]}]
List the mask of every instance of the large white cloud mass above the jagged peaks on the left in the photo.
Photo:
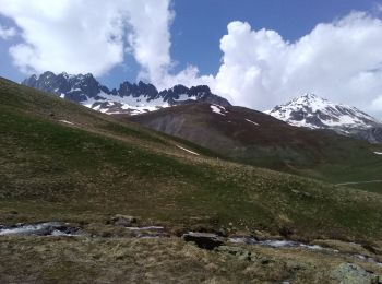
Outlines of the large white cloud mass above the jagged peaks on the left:
[{"label": "large white cloud mass above the jagged peaks on the left", "polygon": [[159,76],[170,64],[169,0],[0,0],[0,13],[22,31],[10,54],[24,73],[102,75],[126,51],[142,66],[141,76]]}]

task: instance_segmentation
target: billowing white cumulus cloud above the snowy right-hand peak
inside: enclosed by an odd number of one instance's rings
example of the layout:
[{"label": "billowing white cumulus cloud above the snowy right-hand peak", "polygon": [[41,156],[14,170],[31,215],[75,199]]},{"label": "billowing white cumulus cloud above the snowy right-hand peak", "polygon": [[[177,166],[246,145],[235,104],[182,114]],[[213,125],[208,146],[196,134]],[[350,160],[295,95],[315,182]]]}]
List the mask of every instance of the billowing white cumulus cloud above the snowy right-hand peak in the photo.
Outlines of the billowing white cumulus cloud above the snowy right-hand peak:
[{"label": "billowing white cumulus cloud above the snowy right-hand peak", "polygon": [[[198,78],[237,105],[266,109],[305,92],[382,117],[382,21],[354,12],[289,43],[275,31],[232,22],[214,76]],[[176,76],[175,80],[178,78]]]}]

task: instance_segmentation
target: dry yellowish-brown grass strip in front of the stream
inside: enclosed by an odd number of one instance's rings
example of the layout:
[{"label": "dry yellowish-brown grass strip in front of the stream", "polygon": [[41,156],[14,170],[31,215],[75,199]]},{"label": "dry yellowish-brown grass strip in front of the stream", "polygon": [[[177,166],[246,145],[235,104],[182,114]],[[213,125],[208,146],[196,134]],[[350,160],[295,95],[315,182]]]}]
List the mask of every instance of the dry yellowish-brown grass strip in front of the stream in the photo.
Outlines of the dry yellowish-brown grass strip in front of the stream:
[{"label": "dry yellowish-brown grass strip in front of the stream", "polygon": [[239,259],[172,238],[7,237],[0,249],[1,283],[331,283],[327,274],[336,265],[357,263],[327,253],[248,246],[242,249],[251,259]]}]

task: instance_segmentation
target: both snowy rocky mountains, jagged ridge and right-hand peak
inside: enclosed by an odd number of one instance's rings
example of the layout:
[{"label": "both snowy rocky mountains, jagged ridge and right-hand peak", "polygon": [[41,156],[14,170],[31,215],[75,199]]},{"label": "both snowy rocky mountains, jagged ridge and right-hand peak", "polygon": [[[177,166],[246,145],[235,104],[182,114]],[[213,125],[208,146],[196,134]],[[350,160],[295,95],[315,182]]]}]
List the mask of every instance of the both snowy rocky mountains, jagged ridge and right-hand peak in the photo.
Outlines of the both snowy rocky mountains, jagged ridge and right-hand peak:
[{"label": "both snowy rocky mountains, jagged ridge and right-hand peak", "polygon": [[[50,71],[39,76],[32,75],[22,84],[108,115],[133,116],[193,103],[230,106],[227,99],[213,94],[206,85],[190,88],[176,85],[159,92],[153,84],[126,81],[118,88],[109,90],[92,74],[55,74]],[[375,118],[355,107],[334,104],[314,94],[305,94],[264,113],[291,126],[332,130],[370,143],[382,142],[382,123]]]}]

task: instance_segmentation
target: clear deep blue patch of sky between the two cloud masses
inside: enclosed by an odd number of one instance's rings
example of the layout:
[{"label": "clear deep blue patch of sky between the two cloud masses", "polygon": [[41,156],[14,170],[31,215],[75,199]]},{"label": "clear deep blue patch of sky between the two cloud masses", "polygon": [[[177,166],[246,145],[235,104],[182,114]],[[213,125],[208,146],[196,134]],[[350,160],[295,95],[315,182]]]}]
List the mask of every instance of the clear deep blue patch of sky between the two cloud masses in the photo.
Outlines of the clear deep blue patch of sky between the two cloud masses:
[{"label": "clear deep blue patch of sky between the two cloud masses", "polygon": [[216,73],[222,52],[219,40],[227,24],[243,21],[255,29],[277,31],[296,40],[318,23],[332,22],[350,11],[370,11],[373,0],[176,0],[171,54],[180,66],[192,63],[202,73]]}]

